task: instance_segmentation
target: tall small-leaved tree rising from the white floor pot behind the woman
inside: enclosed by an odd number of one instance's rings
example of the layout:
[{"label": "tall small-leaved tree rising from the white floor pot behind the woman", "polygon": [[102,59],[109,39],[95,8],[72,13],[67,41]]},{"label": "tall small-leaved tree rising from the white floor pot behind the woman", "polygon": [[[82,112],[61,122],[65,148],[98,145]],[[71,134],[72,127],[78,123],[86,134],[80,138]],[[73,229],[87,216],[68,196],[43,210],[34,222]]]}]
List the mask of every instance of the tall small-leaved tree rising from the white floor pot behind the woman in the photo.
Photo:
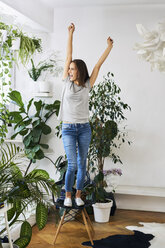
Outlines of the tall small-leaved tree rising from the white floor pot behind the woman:
[{"label": "tall small-leaved tree rising from the white floor pot behind the woman", "polygon": [[92,138],[88,152],[88,170],[95,175],[94,187],[90,190],[94,192],[97,208],[100,203],[103,207],[108,198],[103,173],[105,158],[110,157],[114,163],[122,163],[114,149],[120,148],[124,142],[130,144],[127,133],[120,127],[126,120],[124,110],[130,110],[130,107],[121,101],[120,92],[121,89],[115,84],[114,75],[110,72],[90,92]]}]

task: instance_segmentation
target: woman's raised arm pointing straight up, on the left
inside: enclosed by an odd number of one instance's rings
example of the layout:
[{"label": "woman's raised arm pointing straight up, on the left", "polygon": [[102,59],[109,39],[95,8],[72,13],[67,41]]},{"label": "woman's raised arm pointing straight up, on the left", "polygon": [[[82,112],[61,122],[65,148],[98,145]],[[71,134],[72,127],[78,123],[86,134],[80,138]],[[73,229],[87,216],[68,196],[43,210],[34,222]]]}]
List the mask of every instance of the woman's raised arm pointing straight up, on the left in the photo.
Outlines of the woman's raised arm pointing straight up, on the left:
[{"label": "woman's raised arm pointing straight up, on the left", "polygon": [[68,27],[68,43],[67,43],[67,51],[66,51],[66,60],[64,66],[64,72],[62,79],[64,80],[68,76],[69,65],[72,61],[72,40],[73,40],[73,32],[75,30],[75,26],[73,23]]}]

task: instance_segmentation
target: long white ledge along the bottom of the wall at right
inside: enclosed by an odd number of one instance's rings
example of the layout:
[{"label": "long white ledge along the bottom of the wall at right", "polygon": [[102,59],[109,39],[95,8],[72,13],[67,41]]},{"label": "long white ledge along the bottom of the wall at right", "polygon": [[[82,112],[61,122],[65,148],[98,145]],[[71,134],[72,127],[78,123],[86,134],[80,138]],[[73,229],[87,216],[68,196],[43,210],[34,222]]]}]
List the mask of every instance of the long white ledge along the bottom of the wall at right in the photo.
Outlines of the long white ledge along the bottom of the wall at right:
[{"label": "long white ledge along the bottom of the wall at right", "polygon": [[165,188],[120,185],[115,200],[119,209],[165,212]]}]

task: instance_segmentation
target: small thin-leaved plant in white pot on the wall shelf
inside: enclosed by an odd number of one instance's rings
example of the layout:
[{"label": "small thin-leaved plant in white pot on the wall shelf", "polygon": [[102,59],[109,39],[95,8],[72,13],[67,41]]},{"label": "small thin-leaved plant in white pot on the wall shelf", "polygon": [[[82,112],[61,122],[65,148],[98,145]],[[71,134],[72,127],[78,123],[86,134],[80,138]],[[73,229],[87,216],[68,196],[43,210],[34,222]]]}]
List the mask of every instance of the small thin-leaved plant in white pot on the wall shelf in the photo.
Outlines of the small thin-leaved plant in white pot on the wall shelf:
[{"label": "small thin-leaved plant in white pot on the wall shelf", "polygon": [[39,92],[50,92],[48,76],[58,76],[62,67],[57,64],[57,55],[52,53],[48,58],[40,61],[37,65],[31,59],[31,68],[28,70],[29,76],[33,81],[38,81]]}]

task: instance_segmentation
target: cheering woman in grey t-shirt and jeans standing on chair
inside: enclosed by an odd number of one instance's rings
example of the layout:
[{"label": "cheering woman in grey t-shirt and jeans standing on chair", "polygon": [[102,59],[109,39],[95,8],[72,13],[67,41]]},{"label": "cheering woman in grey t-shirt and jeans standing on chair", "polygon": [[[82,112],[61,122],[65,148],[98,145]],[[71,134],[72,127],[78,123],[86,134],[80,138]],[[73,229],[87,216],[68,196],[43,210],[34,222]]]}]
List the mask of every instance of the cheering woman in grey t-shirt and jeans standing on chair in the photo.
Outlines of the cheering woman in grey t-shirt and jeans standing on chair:
[{"label": "cheering woman in grey t-shirt and jeans standing on chair", "polygon": [[62,121],[62,140],[68,160],[65,176],[64,205],[72,206],[71,191],[77,170],[77,185],[75,202],[77,206],[84,205],[81,191],[86,174],[86,158],[91,140],[89,125],[89,90],[94,85],[101,65],[113,47],[113,40],[108,37],[107,48],[95,65],[91,76],[87,66],[80,59],[72,60],[72,40],[75,26],[68,27],[67,57],[63,72],[64,88],[58,120]]}]

